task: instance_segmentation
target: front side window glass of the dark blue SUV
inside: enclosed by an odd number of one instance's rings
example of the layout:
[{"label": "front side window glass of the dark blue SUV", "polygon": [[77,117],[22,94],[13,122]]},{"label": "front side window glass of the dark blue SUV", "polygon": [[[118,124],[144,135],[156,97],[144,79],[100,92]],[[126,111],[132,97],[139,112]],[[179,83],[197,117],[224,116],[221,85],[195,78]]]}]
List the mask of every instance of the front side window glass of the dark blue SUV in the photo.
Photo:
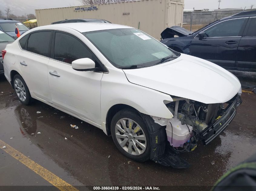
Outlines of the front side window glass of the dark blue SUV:
[{"label": "front side window glass of the dark blue SUV", "polygon": [[241,29],[246,19],[231,19],[215,24],[204,30],[205,37],[239,37],[241,36]]}]

